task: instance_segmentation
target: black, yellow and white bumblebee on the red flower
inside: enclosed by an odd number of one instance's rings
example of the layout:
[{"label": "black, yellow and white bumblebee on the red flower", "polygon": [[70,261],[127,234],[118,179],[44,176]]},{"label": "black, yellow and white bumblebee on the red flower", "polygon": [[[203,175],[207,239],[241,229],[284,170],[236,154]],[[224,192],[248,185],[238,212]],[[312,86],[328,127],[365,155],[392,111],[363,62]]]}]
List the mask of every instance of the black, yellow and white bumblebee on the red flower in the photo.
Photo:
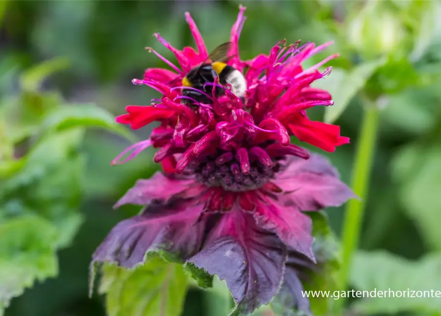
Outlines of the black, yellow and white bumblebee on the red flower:
[{"label": "black, yellow and white bumblebee on the red flower", "polygon": [[192,108],[195,107],[194,101],[191,99],[204,104],[212,104],[213,88],[215,89],[214,95],[216,97],[225,94],[226,89],[226,87],[216,86],[215,84],[205,84],[215,83],[216,81],[223,86],[229,84],[231,86],[230,91],[244,101],[246,91],[245,78],[239,70],[226,64],[231,59],[231,56],[227,57],[230,46],[231,42],[217,46],[205,62],[191,69],[182,79],[182,85],[184,86],[182,88],[182,95],[189,98],[182,99],[184,104]]}]

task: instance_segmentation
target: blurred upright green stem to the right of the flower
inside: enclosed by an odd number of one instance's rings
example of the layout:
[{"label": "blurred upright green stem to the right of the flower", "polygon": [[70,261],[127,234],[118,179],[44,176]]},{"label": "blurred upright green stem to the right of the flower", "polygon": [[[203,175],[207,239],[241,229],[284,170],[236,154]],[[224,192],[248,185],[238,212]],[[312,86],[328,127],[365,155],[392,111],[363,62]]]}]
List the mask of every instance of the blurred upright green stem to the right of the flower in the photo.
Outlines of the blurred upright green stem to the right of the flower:
[{"label": "blurred upright green stem to the right of the flower", "polygon": [[[369,101],[367,101],[369,102]],[[356,250],[361,234],[361,220],[366,204],[367,190],[369,187],[370,170],[372,167],[373,154],[379,110],[376,105],[368,104],[364,109],[361,134],[358,139],[357,153],[352,177],[352,188],[359,199],[351,199],[346,206],[345,219],[343,222],[342,243],[343,261],[339,278],[340,290],[345,290],[348,285],[352,257]],[[339,307],[343,307],[343,301],[338,300]],[[342,312],[340,309],[339,312]],[[343,314],[340,314],[343,315]]]}]

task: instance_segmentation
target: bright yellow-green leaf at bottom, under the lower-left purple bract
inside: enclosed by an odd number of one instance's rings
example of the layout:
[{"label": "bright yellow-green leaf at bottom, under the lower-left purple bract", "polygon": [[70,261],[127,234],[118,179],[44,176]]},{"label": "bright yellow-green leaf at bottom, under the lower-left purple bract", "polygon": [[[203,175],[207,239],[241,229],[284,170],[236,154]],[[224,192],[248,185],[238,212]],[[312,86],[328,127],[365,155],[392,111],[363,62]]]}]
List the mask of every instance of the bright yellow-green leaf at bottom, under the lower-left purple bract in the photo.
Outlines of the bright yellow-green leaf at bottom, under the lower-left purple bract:
[{"label": "bright yellow-green leaf at bottom, under the lower-left purple bract", "polygon": [[180,316],[187,292],[182,265],[154,257],[125,269],[106,264],[99,291],[106,293],[109,316]]}]

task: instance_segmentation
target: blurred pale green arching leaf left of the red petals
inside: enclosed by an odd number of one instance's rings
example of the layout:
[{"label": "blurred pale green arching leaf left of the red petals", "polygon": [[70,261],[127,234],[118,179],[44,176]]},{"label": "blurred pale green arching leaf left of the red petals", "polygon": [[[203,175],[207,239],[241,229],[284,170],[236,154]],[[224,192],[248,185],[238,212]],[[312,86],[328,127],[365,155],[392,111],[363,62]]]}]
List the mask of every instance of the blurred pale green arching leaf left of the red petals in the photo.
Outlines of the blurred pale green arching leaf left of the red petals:
[{"label": "blurred pale green arching leaf left of the red petals", "polygon": [[112,114],[93,104],[69,104],[55,109],[43,121],[41,130],[50,132],[79,126],[101,127],[136,141],[134,135],[118,124]]}]

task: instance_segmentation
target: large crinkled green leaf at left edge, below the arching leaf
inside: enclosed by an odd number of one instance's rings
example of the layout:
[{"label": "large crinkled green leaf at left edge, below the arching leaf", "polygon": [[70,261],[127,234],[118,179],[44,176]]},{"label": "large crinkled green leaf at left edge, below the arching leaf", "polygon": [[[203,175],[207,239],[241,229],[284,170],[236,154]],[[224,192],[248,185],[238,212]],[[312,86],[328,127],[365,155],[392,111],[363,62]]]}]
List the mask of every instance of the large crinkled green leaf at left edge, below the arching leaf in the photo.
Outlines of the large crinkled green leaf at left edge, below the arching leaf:
[{"label": "large crinkled green leaf at left edge, below the arching leaf", "polygon": [[1,183],[3,216],[44,217],[58,228],[57,249],[70,244],[82,223],[78,213],[85,167],[78,154],[82,135],[77,128],[42,138]]}]

